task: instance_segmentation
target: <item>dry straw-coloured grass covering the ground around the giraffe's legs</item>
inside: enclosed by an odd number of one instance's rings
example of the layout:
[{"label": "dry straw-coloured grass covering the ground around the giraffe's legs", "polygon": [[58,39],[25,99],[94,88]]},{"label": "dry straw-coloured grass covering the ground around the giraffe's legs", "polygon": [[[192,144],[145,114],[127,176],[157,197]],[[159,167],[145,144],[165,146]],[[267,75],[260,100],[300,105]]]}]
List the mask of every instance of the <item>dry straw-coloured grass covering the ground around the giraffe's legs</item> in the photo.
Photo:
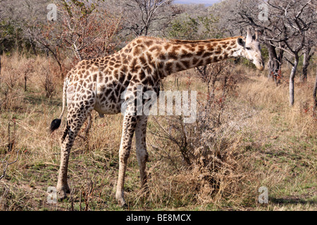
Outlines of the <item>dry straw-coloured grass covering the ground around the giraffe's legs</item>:
[{"label": "dry straw-coloured grass covering the ground around the giraffe's legs", "polygon": [[[49,135],[47,128],[61,112],[62,80],[53,60],[18,55],[2,60],[0,156],[11,162],[18,149],[20,155],[0,181],[0,210],[120,210],[114,193],[122,115],[99,119],[93,113],[87,141],[77,138],[70,156],[70,198],[48,204],[46,190],[57,181],[62,129]],[[30,62],[33,68],[24,91],[23,65]],[[275,86],[263,74],[234,68],[233,75],[239,77],[235,89],[226,92],[223,108],[208,114],[221,110],[220,123],[189,136],[194,146],[191,165],[175,143],[157,135],[175,124],[170,134],[181,139],[178,117],[149,118],[150,192],[139,192],[132,148],[125,183],[131,210],[316,210],[317,122],[309,97],[313,77],[296,84],[295,105],[290,108],[287,82]],[[51,81],[51,94],[46,79]],[[216,85],[219,96],[222,86]],[[192,71],[168,77],[164,87],[197,90],[204,102],[206,84]],[[15,134],[13,127],[8,133],[9,122],[15,123]],[[12,150],[9,135],[14,139]],[[268,204],[258,203],[260,186],[268,188]]]}]

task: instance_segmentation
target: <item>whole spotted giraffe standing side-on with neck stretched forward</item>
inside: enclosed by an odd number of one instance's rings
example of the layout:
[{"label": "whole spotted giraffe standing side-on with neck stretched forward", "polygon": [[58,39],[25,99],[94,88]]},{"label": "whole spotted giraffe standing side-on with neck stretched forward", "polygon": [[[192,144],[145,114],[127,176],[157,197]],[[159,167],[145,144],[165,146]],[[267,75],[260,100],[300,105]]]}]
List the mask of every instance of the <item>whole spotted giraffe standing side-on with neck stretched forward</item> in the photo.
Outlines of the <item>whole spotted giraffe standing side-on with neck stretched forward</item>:
[{"label": "whole spotted giraffe standing side-on with neck stretched forward", "polygon": [[[258,36],[252,37],[249,29],[247,37],[198,41],[137,37],[111,56],[80,61],[68,72],[63,82],[62,112],[58,119],[51,122],[50,127],[51,132],[58,129],[67,103],[68,113],[61,136],[61,165],[56,186],[58,198],[66,198],[70,191],[67,182],[70,149],[92,110],[96,110],[100,117],[120,113],[123,103],[131,95],[136,95],[138,85],[142,85],[142,91],[159,93],[160,81],[174,72],[240,56],[254,63],[257,69],[264,69]],[[121,99],[120,95],[125,90],[131,94]],[[129,112],[131,107],[128,105],[126,110]],[[147,119],[147,115],[123,115],[116,188],[116,200],[123,207],[127,206],[124,199],[125,170],[134,133],[141,188],[147,189]]]}]

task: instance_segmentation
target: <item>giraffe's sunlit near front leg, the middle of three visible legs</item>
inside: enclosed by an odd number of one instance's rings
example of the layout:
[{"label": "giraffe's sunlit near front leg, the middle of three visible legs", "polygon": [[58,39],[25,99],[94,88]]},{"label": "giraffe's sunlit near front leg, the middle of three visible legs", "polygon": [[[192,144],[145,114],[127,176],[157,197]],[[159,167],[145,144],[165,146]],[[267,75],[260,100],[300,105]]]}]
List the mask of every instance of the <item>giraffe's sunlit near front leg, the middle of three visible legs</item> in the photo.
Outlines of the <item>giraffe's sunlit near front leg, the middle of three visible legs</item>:
[{"label": "giraffe's sunlit near front leg, the middle of three visible legs", "polygon": [[119,150],[119,176],[116,191],[116,199],[123,207],[127,206],[124,198],[125,170],[127,169],[132,137],[135,132],[135,124],[136,116],[125,113],[125,117],[123,118],[123,131]]}]

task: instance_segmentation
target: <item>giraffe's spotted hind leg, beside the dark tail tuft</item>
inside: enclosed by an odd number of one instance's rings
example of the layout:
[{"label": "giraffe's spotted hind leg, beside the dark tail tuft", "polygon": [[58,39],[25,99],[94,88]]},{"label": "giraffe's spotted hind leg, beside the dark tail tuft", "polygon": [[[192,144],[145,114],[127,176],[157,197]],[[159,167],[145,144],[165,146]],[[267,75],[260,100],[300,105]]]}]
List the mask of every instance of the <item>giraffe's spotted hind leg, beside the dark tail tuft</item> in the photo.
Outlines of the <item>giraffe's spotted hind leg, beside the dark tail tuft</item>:
[{"label": "giraffe's spotted hind leg, beside the dark tail tuft", "polygon": [[70,149],[73,146],[80,127],[82,127],[82,124],[92,112],[93,108],[93,106],[83,105],[83,103],[81,103],[77,105],[72,104],[70,110],[68,110],[66,129],[64,130],[61,138],[61,165],[56,186],[58,198],[66,198],[66,193],[69,193],[70,191],[67,182]]}]

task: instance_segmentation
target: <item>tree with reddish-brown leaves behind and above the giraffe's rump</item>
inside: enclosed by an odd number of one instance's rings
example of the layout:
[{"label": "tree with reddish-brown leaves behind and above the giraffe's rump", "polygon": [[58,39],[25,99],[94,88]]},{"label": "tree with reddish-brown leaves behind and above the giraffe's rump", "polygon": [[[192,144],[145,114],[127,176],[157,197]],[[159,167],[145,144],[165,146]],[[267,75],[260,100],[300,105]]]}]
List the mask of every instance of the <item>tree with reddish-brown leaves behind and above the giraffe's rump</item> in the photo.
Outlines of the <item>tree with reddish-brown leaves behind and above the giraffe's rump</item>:
[{"label": "tree with reddish-brown leaves behind and above the giraffe's rump", "polygon": [[[57,20],[30,23],[25,33],[41,49],[56,59],[63,77],[62,58],[77,61],[107,56],[113,53],[115,35],[120,30],[120,19],[99,4],[102,0],[58,0]],[[46,18],[46,16],[45,16]]]}]

